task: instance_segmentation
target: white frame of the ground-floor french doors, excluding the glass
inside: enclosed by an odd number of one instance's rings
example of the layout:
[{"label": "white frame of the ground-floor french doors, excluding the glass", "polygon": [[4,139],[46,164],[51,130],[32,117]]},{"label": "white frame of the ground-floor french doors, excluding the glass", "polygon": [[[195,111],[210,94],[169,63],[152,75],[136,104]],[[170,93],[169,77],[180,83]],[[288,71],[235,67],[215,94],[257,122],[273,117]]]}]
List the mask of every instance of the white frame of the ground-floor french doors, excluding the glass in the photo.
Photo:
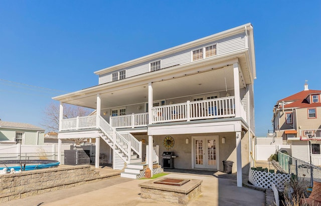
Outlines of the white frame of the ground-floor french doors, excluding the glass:
[{"label": "white frame of the ground-floor french doors, excluding the glass", "polygon": [[[217,165],[217,168],[210,168],[210,167],[207,167],[206,165],[207,164],[204,164],[205,167],[195,167],[196,164],[195,164],[195,140],[197,139],[202,139],[204,141],[204,149],[206,149],[206,151],[203,151],[203,153],[205,153],[205,157],[204,158],[204,161],[208,161],[208,151],[207,151],[207,140],[208,139],[214,139],[215,140],[215,150],[216,150],[216,165]],[[204,154],[203,154],[204,155]],[[192,136],[192,168],[198,168],[198,169],[216,169],[216,170],[219,170],[220,169],[220,162],[219,162],[219,135],[210,135],[210,136]]]}]

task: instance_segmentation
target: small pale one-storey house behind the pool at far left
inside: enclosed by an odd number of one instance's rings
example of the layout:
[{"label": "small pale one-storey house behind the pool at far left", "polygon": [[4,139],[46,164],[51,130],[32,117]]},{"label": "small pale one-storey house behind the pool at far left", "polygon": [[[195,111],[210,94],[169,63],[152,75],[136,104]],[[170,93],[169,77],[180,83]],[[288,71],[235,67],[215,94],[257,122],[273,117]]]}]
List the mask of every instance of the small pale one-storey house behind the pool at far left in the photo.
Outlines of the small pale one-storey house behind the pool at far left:
[{"label": "small pale one-storey house behind the pool at far left", "polygon": [[20,143],[26,145],[43,145],[44,144],[43,128],[32,124],[0,121],[0,144],[3,143]]}]

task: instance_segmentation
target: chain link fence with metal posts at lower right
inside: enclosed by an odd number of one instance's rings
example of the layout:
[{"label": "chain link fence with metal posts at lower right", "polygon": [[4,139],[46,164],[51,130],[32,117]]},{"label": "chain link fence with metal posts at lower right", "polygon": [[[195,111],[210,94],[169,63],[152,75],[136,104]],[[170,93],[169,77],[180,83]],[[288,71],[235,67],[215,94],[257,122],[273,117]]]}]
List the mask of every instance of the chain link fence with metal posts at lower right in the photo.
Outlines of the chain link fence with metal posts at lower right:
[{"label": "chain link fence with metal posts at lower right", "polygon": [[313,185],[313,181],[321,182],[321,168],[303,160],[278,152],[278,160],[282,172],[295,175],[297,180],[304,179]]}]

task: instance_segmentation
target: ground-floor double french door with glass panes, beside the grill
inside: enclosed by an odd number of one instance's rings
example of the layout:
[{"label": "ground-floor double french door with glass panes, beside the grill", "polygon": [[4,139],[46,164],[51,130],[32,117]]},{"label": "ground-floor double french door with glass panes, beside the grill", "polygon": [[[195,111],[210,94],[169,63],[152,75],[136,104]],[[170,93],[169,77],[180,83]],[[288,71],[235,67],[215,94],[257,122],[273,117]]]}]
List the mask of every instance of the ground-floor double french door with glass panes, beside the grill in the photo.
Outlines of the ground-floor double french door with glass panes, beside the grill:
[{"label": "ground-floor double french door with glass panes, beside the grill", "polygon": [[194,168],[218,169],[218,136],[193,137]]}]

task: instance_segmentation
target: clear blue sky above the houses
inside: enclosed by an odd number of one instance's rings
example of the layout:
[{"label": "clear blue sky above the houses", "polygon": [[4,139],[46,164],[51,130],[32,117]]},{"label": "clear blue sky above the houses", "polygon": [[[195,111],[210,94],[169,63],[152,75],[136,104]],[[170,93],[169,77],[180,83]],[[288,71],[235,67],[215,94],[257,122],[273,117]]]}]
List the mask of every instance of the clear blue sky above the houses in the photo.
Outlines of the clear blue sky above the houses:
[{"label": "clear blue sky above the houses", "polygon": [[277,100],[321,90],[321,1],[0,0],[0,119],[41,126],[51,98],[93,72],[246,23],[254,27],[256,135]]}]

